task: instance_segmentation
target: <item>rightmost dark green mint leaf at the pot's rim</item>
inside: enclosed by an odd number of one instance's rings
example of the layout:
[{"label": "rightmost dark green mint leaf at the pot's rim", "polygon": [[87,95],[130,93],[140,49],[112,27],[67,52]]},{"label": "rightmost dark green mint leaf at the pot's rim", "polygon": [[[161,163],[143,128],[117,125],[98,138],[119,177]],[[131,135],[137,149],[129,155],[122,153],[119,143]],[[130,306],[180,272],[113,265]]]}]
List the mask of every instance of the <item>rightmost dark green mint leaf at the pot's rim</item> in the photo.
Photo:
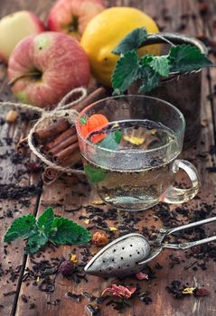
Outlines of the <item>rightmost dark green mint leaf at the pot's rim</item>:
[{"label": "rightmost dark green mint leaf at the pot's rim", "polygon": [[211,60],[197,47],[186,44],[172,47],[168,59],[172,72],[190,72],[212,65]]}]

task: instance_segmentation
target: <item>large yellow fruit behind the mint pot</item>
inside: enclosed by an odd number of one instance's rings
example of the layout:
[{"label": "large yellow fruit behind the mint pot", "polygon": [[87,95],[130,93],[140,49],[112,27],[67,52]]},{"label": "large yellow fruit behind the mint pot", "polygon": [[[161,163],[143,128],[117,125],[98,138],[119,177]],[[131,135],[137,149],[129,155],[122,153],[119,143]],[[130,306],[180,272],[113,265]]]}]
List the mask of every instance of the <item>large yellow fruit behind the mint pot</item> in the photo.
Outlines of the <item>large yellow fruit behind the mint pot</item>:
[{"label": "large yellow fruit behind the mint pot", "polygon": [[[111,86],[111,76],[119,56],[112,53],[127,33],[145,27],[147,33],[158,33],[155,21],[133,7],[111,7],[96,15],[87,25],[80,44],[89,56],[93,75],[100,83]],[[139,55],[160,52],[160,45],[139,49]]]}]

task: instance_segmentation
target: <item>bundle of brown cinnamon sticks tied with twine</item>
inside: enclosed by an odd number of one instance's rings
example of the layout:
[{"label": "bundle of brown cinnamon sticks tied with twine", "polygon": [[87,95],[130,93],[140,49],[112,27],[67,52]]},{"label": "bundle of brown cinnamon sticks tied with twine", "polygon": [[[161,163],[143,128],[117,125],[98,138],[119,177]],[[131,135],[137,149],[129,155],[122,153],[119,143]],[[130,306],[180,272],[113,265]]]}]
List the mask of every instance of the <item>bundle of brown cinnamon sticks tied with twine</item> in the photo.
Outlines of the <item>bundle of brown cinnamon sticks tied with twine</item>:
[{"label": "bundle of brown cinnamon sticks tied with twine", "polygon": [[[89,104],[106,97],[105,88],[97,88],[89,95],[74,105],[74,109],[81,111]],[[80,163],[81,155],[78,144],[78,137],[74,125],[70,125],[67,118],[58,117],[51,125],[33,133],[33,141],[39,146],[40,151],[53,163],[62,167],[72,167]],[[23,138],[17,144],[17,152],[21,155],[26,153],[27,138]],[[46,167],[42,173],[44,183],[51,184],[62,172],[52,167]]]}]

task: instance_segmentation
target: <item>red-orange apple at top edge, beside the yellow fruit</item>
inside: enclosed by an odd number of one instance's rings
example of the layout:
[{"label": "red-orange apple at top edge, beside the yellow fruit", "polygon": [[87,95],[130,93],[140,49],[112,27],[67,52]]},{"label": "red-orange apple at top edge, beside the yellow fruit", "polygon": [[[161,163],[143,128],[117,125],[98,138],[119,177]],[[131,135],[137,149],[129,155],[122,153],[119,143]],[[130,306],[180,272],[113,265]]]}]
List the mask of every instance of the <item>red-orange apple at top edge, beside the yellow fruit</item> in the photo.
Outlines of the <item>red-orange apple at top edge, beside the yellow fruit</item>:
[{"label": "red-orange apple at top edge, beside the yellow fruit", "polygon": [[89,21],[104,9],[102,0],[59,0],[52,6],[48,26],[80,39]]}]

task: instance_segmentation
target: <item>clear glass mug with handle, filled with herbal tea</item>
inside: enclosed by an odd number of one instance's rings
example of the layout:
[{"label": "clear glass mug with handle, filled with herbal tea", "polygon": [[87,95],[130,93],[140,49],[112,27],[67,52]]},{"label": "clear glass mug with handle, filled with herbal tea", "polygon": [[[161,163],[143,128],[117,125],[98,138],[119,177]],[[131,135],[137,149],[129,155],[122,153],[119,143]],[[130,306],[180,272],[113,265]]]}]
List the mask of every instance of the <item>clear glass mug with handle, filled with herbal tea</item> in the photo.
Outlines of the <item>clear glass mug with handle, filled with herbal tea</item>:
[{"label": "clear glass mug with handle, filled with herbal tea", "polygon": [[[91,126],[89,132],[84,127],[95,114],[106,116],[108,124]],[[89,182],[112,207],[139,211],[160,201],[183,203],[199,191],[193,164],[176,159],[185,121],[170,103],[134,95],[105,98],[86,107],[76,127]],[[179,169],[189,176],[191,188],[174,187]]]}]

